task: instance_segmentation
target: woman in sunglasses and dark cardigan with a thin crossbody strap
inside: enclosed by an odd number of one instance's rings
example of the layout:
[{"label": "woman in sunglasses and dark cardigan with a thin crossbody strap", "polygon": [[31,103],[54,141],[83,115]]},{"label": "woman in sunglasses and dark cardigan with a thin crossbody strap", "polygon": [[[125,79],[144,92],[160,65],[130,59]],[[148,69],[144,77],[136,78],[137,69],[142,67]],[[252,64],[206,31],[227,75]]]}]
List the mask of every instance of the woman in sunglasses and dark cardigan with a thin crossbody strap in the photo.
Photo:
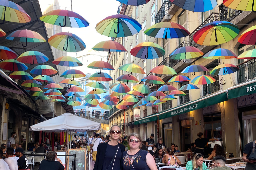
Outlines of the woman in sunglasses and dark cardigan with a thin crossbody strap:
[{"label": "woman in sunglasses and dark cardigan with a thin crossbody strap", "polygon": [[121,135],[121,128],[113,125],[110,128],[111,140],[100,143],[97,148],[97,155],[93,170],[121,170],[124,145],[118,143]]}]

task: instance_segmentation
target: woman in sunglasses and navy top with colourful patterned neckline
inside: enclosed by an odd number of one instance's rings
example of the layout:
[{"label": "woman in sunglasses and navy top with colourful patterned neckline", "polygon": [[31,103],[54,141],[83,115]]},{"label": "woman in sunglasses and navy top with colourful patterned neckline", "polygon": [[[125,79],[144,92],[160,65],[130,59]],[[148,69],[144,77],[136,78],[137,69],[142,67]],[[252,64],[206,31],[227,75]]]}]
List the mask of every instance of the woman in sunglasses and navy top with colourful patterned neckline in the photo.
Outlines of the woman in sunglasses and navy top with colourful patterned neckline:
[{"label": "woman in sunglasses and navy top with colourful patterned neckline", "polygon": [[138,133],[131,133],[128,138],[130,150],[124,152],[124,170],[157,170],[153,156],[145,150],[141,150],[141,137]]}]

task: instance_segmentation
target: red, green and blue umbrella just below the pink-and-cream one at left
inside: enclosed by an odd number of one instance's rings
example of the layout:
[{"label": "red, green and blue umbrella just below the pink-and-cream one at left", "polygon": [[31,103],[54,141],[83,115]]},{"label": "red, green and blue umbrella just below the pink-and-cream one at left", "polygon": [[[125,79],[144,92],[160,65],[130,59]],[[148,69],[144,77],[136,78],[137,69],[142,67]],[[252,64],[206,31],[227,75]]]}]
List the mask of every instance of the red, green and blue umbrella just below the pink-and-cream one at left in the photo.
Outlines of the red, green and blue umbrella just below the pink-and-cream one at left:
[{"label": "red, green and blue umbrella just below the pink-and-cream one at left", "polygon": [[49,60],[49,58],[44,55],[42,52],[38,51],[26,51],[23,52],[17,60],[19,62],[27,63],[27,64],[39,64],[44,63]]}]

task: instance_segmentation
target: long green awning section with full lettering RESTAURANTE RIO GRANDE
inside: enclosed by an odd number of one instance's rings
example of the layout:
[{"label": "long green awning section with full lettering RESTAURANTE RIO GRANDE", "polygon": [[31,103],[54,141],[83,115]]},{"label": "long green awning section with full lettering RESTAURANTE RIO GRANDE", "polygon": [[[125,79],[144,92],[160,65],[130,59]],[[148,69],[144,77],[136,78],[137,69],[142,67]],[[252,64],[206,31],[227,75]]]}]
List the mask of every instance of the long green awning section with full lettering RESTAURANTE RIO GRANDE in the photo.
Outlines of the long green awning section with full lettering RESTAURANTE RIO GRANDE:
[{"label": "long green awning section with full lettering RESTAURANTE RIO GRANDE", "polygon": [[213,95],[195,100],[193,102],[189,102],[187,104],[180,105],[175,108],[160,112],[160,113],[158,113],[159,120],[169,118],[169,117],[172,117],[175,115],[187,113],[187,112],[197,110],[200,108],[208,107],[211,105],[215,105],[217,103],[224,102],[227,100],[228,100],[228,97],[227,97],[226,90],[221,91],[221,92],[215,93]]}]

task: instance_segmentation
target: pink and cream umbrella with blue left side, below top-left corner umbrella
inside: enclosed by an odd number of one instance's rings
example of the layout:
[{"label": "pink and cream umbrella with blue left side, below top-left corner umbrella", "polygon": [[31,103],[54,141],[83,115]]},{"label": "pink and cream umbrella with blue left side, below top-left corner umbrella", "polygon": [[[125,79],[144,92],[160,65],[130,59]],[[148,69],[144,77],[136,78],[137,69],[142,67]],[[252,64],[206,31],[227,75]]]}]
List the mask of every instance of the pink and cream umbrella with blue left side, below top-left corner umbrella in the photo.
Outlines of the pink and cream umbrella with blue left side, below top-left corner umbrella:
[{"label": "pink and cream umbrella with blue left side, below top-left corner umbrella", "polygon": [[27,29],[14,31],[9,34],[6,39],[11,41],[26,42],[26,44],[22,43],[23,47],[26,47],[28,42],[46,42],[43,36],[41,36],[39,33]]}]

